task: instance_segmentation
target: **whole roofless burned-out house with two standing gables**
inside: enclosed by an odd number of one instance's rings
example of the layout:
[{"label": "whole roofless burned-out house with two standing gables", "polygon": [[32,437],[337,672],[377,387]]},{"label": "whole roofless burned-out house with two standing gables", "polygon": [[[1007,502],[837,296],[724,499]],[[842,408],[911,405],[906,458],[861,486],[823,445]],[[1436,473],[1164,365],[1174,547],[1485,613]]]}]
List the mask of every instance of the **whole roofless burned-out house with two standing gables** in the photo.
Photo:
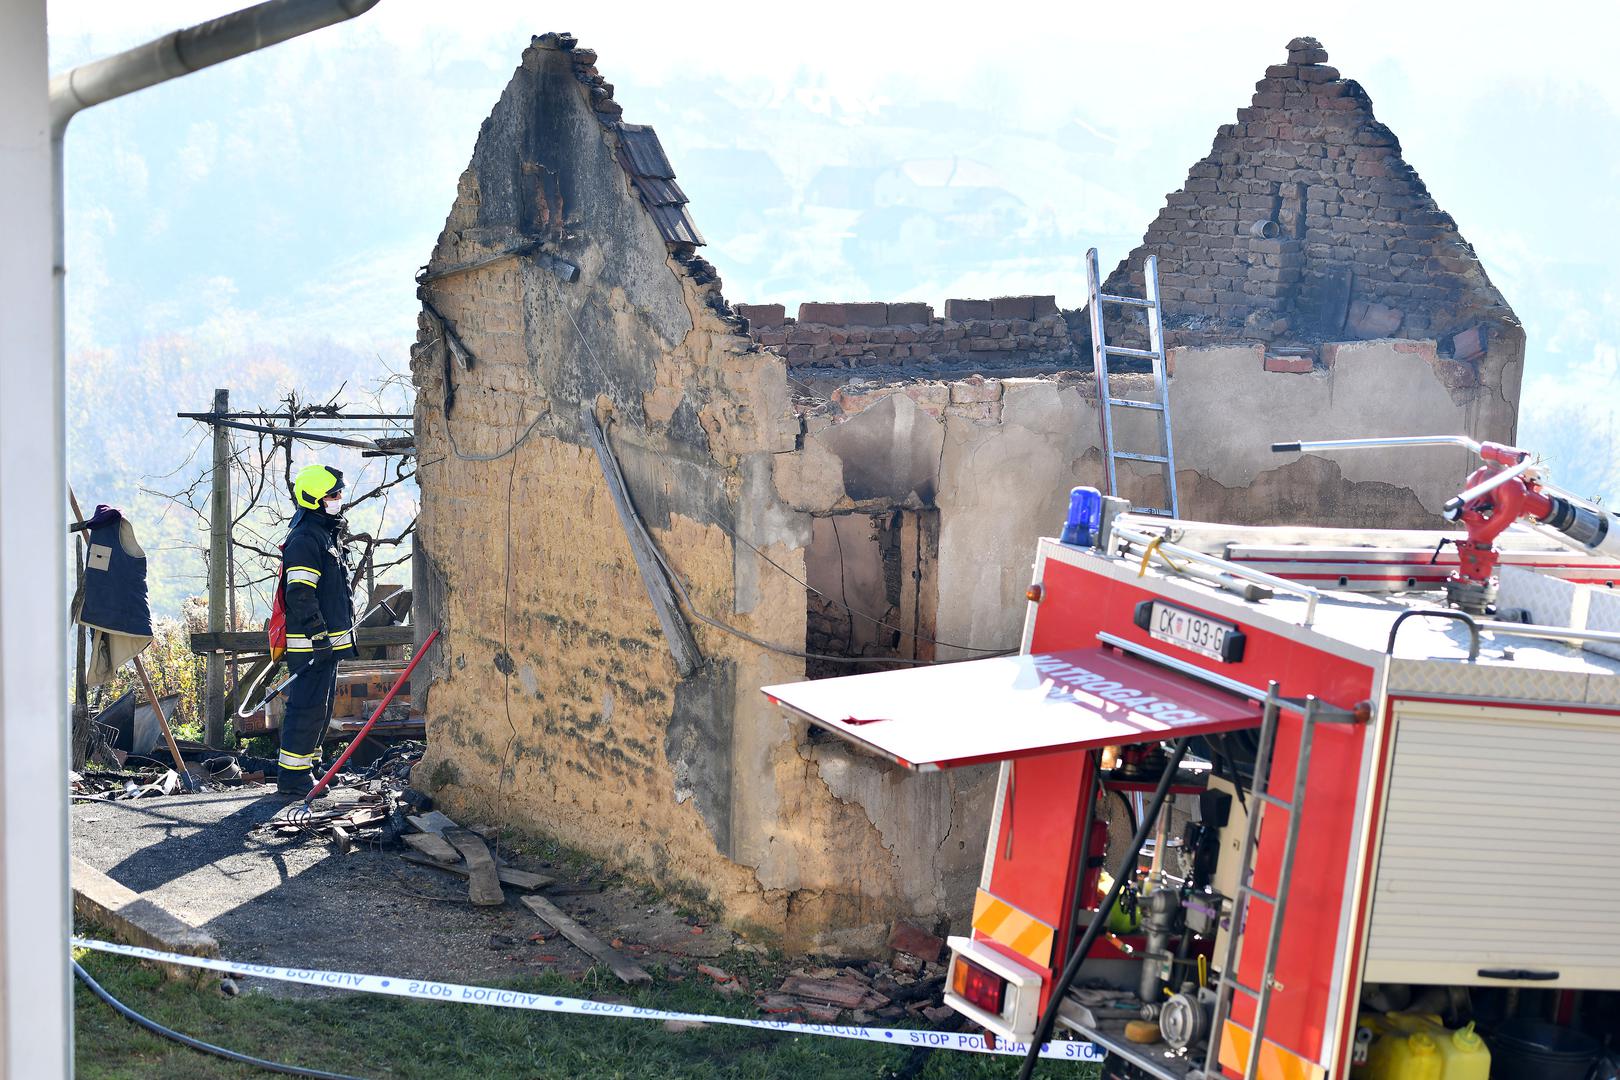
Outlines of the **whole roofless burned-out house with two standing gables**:
[{"label": "whole roofless burned-out house with two standing gables", "polygon": [[[1325,60],[1290,44],[1108,283],[1158,257],[1183,517],[1429,526],[1460,450],[1268,444],[1515,434],[1518,322]],[[758,688],[1017,648],[1035,538],[1102,483],[1087,321],[1053,295],[789,317],[729,303],[701,243],[596,53],[536,37],[421,279],[416,604],[444,648],[418,782],[860,949],[964,915],[993,772],[902,774]]]}]

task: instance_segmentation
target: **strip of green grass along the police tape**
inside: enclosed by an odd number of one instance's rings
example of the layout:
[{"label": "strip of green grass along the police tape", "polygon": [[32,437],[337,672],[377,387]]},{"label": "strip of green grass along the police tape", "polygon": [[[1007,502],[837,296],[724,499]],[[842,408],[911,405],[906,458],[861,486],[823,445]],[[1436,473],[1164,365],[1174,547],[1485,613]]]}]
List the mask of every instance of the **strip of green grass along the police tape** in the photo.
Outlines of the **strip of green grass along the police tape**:
[{"label": "strip of green grass along the police tape", "polygon": [[[988,1078],[1016,1077],[1021,1064],[1016,1057],[919,1052],[734,1027],[669,1031],[658,1020],[567,1017],[358,993],[316,1001],[264,993],[227,997],[212,976],[198,984],[165,981],[160,972],[125,957],[84,952],[78,959],[115,997],[183,1035],[256,1057],[368,1078]],[[727,968],[731,960],[724,960]],[[735,960],[735,967],[747,968],[747,957]],[[684,983],[658,978],[650,988],[627,991],[606,970],[595,968],[580,981],[538,976],[505,986],[671,1010],[760,1015],[750,997],[729,999],[698,978]],[[78,980],[73,1023],[76,1072],[84,1080],[269,1075],[151,1035]],[[1042,1062],[1037,1075],[1094,1080],[1097,1065],[1051,1061]]]}]

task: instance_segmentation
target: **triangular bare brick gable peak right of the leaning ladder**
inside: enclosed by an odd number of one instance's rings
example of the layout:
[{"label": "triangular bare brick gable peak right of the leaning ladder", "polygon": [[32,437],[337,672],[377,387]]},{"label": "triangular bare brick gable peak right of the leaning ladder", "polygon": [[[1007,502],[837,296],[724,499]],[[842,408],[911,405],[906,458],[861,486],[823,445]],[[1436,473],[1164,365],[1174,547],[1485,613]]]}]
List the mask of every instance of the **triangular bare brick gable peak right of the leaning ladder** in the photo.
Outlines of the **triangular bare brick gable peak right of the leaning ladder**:
[{"label": "triangular bare brick gable peak right of the leaning ladder", "polygon": [[[1452,355],[1481,321],[1516,327],[1366,91],[1327,58],[1314,37],[1288,42],[1105,288],[1140,288],[1157,256],[1179,343],[1243,329],[1265,342],[1434,337]],[[1482,342],[1460,345],[1466,359]]]}]

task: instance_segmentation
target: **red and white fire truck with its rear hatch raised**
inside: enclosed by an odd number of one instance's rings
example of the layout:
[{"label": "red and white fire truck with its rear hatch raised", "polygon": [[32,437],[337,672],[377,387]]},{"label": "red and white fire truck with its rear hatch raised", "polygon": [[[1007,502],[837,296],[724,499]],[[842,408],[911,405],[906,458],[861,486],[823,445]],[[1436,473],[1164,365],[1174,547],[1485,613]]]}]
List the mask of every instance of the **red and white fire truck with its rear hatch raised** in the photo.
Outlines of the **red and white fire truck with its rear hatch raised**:
[{"label": "red and white fire truck with its rear hatch raised", "polygon": [[1620,1041],[1620,521],[1463,436],[1273,449],[1426,445],[1482,458],[1455,533],[1076,489],[1017,656],[765,688],[902,769],[998,763],[946,1002],[1025,1075],[1066,1033],[1110,1078],[1361,1077],[1403,1009],[1568,1035],[1495,1077]]}]

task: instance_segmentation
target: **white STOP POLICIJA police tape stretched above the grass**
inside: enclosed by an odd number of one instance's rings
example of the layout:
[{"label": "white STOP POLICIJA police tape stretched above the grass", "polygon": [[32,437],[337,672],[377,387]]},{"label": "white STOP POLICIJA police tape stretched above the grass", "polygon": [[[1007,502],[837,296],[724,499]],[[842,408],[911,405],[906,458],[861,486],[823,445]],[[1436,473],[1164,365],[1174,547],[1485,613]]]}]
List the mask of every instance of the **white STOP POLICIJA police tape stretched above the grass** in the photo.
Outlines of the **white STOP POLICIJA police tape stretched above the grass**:
[{"label": "white STOP POLICIJA police tape stretched above the grass", "polygon": [[[94,949],[122,957],[156,960],[159,963],[180,963],[185,967],[207,968],[222,975],[253,975],[282,983],[301,983],[305,986],[330,986],[334,989],[353,989],[366,994],[387,994],[392,997],[418,997],[421,1001],[449,1001],[467,1006],[501,1006],[504,1009],[530,1009],[535,1012],[561,1012],[586,1017],[620,1017],[627,1020],[684,1020],[687,1023],[726,1023],[739,1028],[758,1028],[763,1031],[787,1031],[794,1035],[821,1035],[826,1038],[855,1040],[860,1043],[876,1043],[880,1046],[906,1046],[930,1049],[957,1049],[974,1054],[1008,1054],[1024,1057],[1029,1054],[1029,1043],[1009,1043],[996,1040],[995,1046],[987,1046],[982,1035],[964,1031],[928,1031],[917,1028],[863,1028],[844,1023],[794,1023],[789,1020],[752,1020],[747,1017],[713,1017],[700,1012],[667,1012],[663,1009],[645,1009],[642,1006],[625,1006],[612,1001],[590,1001],[585,997],[557,997],[554,994],[531,994],[520,989],[499,989],[496,986],[463,986],[460,983],[439,983],[423,978],[394,978],[389,975],[356,975],[352,972],[316,972],[308,968],[287,968],[274,963],[243,963],[240,960],[215,960],[211,957],[188,957],[180,952],[159,952],[141,946],[123,946],[112,941],[94,941],[89,938],[73,938],[75,949]],[[1103,1048],[1095,1043],[1051,1041],[1040,1048],[1042,1057],[1059,1061],[1102,1061]]]}]

